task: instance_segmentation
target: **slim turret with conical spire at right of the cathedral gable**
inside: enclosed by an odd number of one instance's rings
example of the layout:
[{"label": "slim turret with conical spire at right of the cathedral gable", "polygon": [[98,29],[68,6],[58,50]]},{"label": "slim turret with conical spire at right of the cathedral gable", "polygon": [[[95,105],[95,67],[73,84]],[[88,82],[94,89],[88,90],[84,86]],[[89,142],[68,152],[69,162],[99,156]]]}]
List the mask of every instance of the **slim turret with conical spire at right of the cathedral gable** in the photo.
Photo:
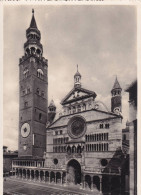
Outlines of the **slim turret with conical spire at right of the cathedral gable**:
[{"label": "slim turret with conical spire at right of the cathedral gable", "polygon": [[118,114],[119,112],[122,112],[122,96],[121,96],[122,88],[120,87],[120,84],[118,82],[118,79],[116,77],[114,86],[111,90],[111,112],[115,112]]}]

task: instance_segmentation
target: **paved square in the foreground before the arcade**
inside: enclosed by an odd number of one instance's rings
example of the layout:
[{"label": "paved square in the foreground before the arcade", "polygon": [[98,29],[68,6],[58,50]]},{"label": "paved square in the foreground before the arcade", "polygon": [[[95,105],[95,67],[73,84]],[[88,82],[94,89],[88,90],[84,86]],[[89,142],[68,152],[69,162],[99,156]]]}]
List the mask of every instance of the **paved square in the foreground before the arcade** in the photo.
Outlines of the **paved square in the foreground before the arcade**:
[{"label": "paved square in the foreground before the arcade", "polygon": [[15,177],[8,177],[3,182],[4,195],[99,195],[99,191],[94,189],[80,189],[78,186],[62,186],[59,184],[49,184],[22,180]]}]

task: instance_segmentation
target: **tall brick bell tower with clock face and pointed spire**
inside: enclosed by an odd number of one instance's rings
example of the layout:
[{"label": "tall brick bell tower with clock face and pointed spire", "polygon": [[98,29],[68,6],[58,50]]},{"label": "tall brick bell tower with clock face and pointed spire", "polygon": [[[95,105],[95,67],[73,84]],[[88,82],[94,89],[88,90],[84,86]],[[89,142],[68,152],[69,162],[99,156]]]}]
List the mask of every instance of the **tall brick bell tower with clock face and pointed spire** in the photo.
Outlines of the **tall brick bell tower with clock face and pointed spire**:
[{"label": "tall brick bell tower with clock face and pointed spire", "polygon": [[48,61],[32,10],[24,56],[19,62],[19,157],[43,157],[46,150]]}]

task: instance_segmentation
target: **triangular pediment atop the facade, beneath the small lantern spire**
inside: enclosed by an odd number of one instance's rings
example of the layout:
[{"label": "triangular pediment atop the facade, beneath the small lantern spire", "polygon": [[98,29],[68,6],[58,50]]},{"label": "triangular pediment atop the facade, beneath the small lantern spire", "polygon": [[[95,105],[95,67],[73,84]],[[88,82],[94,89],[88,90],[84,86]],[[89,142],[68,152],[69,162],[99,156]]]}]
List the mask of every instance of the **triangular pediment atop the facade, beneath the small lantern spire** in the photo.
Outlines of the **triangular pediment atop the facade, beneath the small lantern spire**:
[{"label": "triangular pediment atop the facade, beneath the small lantern spire", "polygon": [[74,102],[76,100],[81,100],[85,99],[88,97],[96,97],[96,93],[84,88],[73,88],[66,96],[65,98],[61,101],[61,104],[67,104]]}]

